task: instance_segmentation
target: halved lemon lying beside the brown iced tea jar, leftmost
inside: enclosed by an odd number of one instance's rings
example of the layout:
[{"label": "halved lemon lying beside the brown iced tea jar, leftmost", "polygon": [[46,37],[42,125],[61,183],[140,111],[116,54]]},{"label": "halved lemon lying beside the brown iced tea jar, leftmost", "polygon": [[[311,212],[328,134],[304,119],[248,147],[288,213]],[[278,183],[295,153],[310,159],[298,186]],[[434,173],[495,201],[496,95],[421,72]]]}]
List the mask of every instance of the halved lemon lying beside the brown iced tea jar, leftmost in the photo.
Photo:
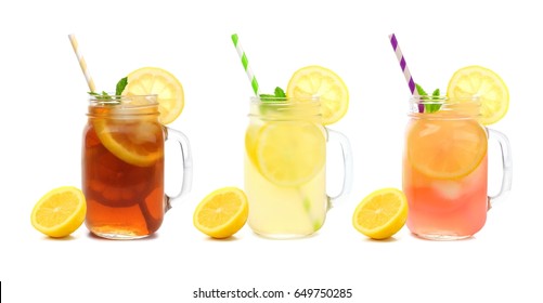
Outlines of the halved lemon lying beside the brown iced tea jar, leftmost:
[{"label": "halved lemon lying beside the brown iced tea jar, leftmost", "polygon": [[87,203],[81,189],[74,186],[54,188],[34,206],[30,221],[39,232],[62,238],[77,230],[85,221]]}]

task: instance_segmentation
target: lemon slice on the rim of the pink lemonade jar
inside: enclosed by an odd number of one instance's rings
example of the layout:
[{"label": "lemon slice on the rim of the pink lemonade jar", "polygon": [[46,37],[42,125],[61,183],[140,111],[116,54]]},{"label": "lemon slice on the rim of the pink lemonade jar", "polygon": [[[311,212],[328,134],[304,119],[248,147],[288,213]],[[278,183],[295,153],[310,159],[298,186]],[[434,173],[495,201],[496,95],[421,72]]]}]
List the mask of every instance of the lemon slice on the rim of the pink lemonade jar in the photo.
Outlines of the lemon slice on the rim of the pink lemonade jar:
[{"label": "lemon slice on the rim of the pink lemonade jar", "polygon": [[480,122],[486,126],[500,121],[509,107],[509,91],[502,78],[477,65],[456,70],[449,81],[447,95],[450,98],[480,100]]}]

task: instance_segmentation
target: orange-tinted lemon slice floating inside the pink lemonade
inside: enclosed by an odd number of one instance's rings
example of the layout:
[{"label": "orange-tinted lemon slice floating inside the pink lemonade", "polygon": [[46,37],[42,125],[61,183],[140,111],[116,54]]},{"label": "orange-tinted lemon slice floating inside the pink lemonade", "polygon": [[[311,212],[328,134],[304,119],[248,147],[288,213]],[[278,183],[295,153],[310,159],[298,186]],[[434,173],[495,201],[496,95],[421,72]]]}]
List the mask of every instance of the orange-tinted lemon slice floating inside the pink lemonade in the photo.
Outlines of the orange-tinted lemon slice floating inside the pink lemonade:
[{"label": "orange-tinted lemon slice floating inside the pink lemonade", "polygon": [[408,131],[406,153],[410,163],[432,179],[460,179],[487,155],[487,133],[470,119],[415,120]]}]

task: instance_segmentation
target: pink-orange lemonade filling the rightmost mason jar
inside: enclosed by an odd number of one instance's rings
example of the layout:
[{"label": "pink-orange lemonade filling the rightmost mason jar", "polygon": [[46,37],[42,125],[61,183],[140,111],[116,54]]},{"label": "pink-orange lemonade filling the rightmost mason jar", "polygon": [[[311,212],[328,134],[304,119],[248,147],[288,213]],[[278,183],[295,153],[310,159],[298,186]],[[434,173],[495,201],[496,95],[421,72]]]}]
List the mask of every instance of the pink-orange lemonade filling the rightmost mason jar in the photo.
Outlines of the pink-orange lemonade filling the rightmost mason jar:
[{"label": "pink-orange lemonade filling the rightmost mason jar", "polygon": [[[468,106],[468,107],[466,107]],[[487,219],[487,132],[469,105],[412,115],[405,132],[408,227],[423,238],[473,236]]]}]

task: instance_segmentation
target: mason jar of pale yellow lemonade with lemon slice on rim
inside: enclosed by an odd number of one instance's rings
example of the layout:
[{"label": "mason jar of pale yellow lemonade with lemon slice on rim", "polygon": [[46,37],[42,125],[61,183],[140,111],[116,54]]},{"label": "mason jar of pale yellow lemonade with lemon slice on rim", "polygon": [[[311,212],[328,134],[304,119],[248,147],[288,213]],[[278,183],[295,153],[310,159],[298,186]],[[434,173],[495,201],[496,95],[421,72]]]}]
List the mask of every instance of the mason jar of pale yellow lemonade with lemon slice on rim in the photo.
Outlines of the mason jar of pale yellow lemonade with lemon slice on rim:
[{"label": "mason jar of pale yellow lemonade with lemon slice on rim", "polygon": [[[325,127],[345,115],[347,104],[340,78],[320,66],[298,69],[286,94],[277,88],[275,95],[250,100],[245,192],[255,233],[271,238],[311,235],[322,227],[334,202],[349,193],[349,140]],[[342,155],[342,186],[333,197],[326,194],[328,142],[337,143]]]}]

